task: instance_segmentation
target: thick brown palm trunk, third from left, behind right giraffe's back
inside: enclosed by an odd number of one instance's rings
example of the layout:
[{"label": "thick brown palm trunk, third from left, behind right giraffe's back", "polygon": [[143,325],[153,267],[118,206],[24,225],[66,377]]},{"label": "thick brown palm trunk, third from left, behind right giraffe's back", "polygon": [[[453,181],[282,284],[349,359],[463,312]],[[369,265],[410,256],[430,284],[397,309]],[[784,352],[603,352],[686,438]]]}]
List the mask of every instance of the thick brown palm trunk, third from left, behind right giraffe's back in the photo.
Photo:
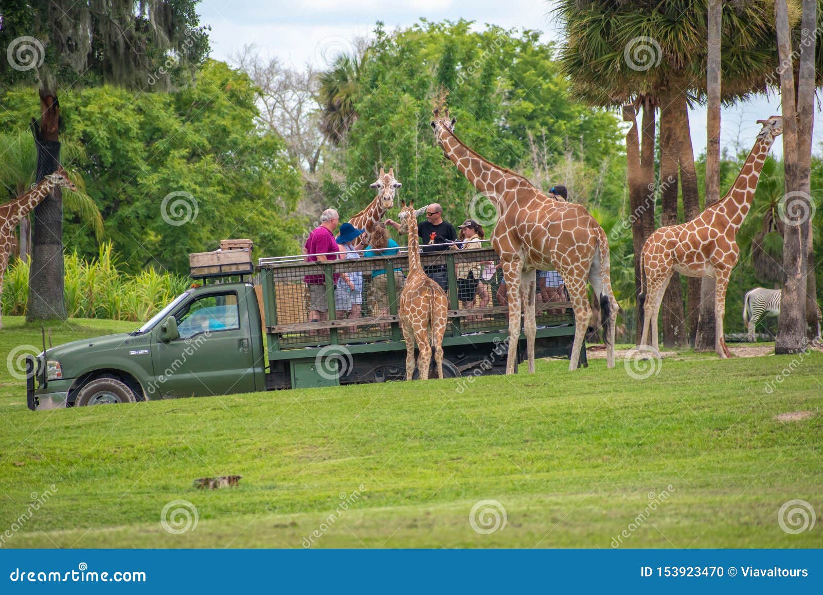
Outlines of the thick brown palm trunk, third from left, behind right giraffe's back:
[{"label": "thick brown palm trunk, third from left, behind right giraffe's back", "polygon": [[[677,91],[675,91],[677,92]],[[677,98],[671,90],[660,95],[660,184],[662,188],[661,225],[677,225],[677,174],[680,146],[677,138]],[[686,321],[683,318],[683,292],[676,272],[663,295],[663,344],[685,346]]]}]

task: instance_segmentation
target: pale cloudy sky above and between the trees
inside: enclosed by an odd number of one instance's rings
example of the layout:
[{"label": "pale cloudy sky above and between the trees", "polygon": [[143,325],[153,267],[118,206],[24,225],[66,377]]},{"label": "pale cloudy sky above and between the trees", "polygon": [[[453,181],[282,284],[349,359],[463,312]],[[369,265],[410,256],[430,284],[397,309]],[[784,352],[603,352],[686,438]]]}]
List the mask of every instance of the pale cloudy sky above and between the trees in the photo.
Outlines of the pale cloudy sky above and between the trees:
[{"label": "pale cloudy sky above and between the trees", "polygon": [[[312,63],[322,68],[337,53],[353,48],[357,37],[367,38],[375,21],[384,21],[386,30],[413,25],[419,19],[476,21],[504,28],[542,31],[543,40],[560,40],[562,30],[551,15],[551,4],[540,0],[202,0],[198,13],[212,26],[212,57],[226,60],[245,44],[255,44],[266,57],[302,67]],[[732,153],[748,151],[760,125],[758,119],[780,114],[779,96],[759,96],[721,114],[721,147]],[[690,110],[691,141],[695,157],[705,151],[706,110]],[[815,116],[815,150],[821,151],[823,117]],[[782,155],[775,143],[772,151]]]}]

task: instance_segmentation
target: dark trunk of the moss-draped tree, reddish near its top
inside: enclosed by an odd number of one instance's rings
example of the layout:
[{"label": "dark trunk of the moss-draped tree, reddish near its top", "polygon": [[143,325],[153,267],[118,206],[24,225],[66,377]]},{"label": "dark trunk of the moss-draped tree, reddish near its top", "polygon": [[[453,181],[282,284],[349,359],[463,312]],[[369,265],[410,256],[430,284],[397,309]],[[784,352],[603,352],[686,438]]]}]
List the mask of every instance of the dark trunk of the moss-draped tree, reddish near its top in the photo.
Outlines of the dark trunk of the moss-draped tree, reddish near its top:
[{"label": "dark trunk of the moss-draped tree, reddish near its top", "polygon": [[[40,90],[40,122],[32,120],[37,147],[36,181],[58,168],[60,107],[53,91]],[[54,188],[35,207],[26,320],[66,318],[63,303],[63,196]]]}]

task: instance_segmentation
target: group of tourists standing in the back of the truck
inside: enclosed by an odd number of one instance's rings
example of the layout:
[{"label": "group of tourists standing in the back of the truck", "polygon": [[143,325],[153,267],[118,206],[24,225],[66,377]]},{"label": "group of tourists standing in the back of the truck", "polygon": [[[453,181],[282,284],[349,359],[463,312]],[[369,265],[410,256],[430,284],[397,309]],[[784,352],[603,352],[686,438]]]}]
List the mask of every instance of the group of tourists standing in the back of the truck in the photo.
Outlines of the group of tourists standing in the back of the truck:
[{"label": "group of tourists standing in the back of the truck", "polygon": [[[551,194],[566,199],[566,189],[563,186],[551,188]],[[554,197],[553,197],[554,198]],[[334,231],[340,227],[337,237]],[[378,256],[394,256],[399,252],[398,243],[389,237],[388,227],[401,229],[401,224],[388,219],[374,224],[370,242],[364,245],[362,241],[365,230],[358,230],[351,223],[340,225],[340,215],[335,209],[329,208],[320,216],[320,225],[312,230],[306,239],[303,253],[309,263],[326,262],[338,258],[373,258]],[[420,236],[421,252],[436,253],[443,250],[472,250],[482,247],[485,232],[482,225],[473,219],[463,221],[454,226],[443,219],[443,207],[436,202],[425,207],[425,221],[417,225]],[[495,263],[492,261],[462,262],[455,267],[457,277],[458,300],[464,309],[479,307],[486,308],[491,303],[491,281],[498,276]],[[424,267],[425,274],[436,281],[444,291],[449,292],[449,277],[444,264],[432,264]],[[396,295],[405,283],[402,268],[395,267],[392,272]],[[377,304],[379,316],[388,316],[388,272],[385,267],[375,268],[371,272],[372,296]],[[502,276],[501,276],[502,277]],[[563,300],[563,280],[554,271],[538,272],[538,290],[544,303]],[[304,281],[309,287],[309,322],[319,322],[328,319],[328,308],[331,300],[326,291],[325,276],[323,274],[306,275]],[[334,309],[337,320],[360,318],[363,307],[363,273],[341,272],[334,273]],[[501,279],[495,293],[500,305],[508,304],[506,300],[505,282]],[[467,317],[467,320],[477,320],[480,316]],[[382,323],[381,328],[387,328],[388,323]],[[350,326],[356,328],[356,323]]]}]

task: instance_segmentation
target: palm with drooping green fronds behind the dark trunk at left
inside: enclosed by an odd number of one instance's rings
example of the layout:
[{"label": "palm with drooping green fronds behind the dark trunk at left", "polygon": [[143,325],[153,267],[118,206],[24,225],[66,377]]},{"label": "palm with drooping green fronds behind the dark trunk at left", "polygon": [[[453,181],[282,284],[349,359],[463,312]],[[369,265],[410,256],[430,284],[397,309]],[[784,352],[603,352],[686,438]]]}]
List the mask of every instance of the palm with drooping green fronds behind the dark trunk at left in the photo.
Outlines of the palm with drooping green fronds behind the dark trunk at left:
[{"label": "palm with drooping green fronds behind the dark trunk at left", "polygon": [[[80,217],[81,221],[91,225],[98,242],[103,238],[103,216],[97,205],[86,194],[86,183],[77,167],[74,166],[83,156],[82,147],[75,142],[63,142],[63,159],[66,170],[77,186],[77,192],[63,190],[63,207]],[[35,183],[37,170],[37,151],[27,135],[0,133],[0,188],[6,188],[7,199],[22,196]],[[2,190],[0,190],[2,193]],[[31,222],[23,217],[19,225],[19,258],[29,258],[31,252]]]}]

